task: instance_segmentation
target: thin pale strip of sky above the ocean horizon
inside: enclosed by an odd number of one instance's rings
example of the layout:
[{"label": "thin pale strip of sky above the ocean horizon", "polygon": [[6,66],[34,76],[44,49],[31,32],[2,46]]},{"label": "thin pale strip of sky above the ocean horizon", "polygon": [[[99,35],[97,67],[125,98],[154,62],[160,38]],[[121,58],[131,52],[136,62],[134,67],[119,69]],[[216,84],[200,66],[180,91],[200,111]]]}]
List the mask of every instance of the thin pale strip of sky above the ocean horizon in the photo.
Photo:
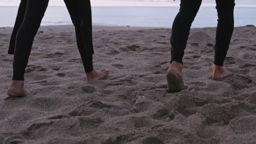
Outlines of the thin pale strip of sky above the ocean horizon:
[{"label": "thin pale strip of sky above the ocean horizon", "polygon": [[[193,1],[193,0],[191,0]],[[228,1],[228,0],[222,0]],[[19,5],[20,0],[0,0],[0,6]],[[255,7],[256,0],[236,0],[237,7]],[[154,7],[178,7],[180,0],[91,0],[92,6],[154,6]],[[50,0],[51,6],[64,5],[63,0]],[[203,7],[214,7],[214,0],[203,0]]]}]

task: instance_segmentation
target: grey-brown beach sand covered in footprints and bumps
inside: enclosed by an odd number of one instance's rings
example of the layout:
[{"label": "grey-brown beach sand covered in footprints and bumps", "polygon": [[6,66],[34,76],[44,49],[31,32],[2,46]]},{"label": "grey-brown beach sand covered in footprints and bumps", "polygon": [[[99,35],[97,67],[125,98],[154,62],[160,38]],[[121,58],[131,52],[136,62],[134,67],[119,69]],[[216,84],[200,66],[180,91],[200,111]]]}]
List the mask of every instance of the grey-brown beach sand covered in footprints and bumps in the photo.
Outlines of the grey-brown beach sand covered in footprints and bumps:
[{"label": "grey-brown beach sand covered in footprints and bumps", "polygon": [[191,29],[180,93],[167,93],[171,29],[94,27],[95,69],[86,82],[73,26],[46,26],[34,41],[26,87],[8,98],[12,28],[0,28],[0,143],[256,143],[256,27],[237,27],[213,81],[216,28]]}]

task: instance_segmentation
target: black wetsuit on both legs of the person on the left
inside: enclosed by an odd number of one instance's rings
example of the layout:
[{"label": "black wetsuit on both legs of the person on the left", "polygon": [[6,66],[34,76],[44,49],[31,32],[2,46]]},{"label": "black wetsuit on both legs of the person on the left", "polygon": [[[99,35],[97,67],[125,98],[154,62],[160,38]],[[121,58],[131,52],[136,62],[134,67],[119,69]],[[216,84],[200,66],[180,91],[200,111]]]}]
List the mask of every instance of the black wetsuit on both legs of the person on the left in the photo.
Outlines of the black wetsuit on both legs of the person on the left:
[{"label": "black wetsuit on both legs of the person on the left", "polygon": [[[14,54],[13,80],[24,80],[33,40],[48,7],[48,2],[49,0],[21,0],[8,51],[9,54]],[[75,25],[78,49],[84,69],[88,73],[93,70],[92,54],[94,53],[90,1],[66,0],[65,2]],[[82,8],[86,10],[82,11]]]}]

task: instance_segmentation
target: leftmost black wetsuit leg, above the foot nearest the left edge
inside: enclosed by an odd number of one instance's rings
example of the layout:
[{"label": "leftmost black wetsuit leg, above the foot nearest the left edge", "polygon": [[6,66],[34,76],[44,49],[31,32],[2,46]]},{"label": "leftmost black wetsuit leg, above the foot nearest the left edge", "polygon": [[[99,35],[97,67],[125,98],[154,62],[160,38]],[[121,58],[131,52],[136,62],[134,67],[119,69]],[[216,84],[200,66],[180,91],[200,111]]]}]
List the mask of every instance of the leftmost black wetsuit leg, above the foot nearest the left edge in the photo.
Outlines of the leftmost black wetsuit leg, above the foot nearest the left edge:
[{"label": "leftmost black wetsuit leg, above the foot nearest the left edge", "polygon": [[43,19],[49,0],[27,0],[27,8],[19,31],[16,36],[16,44],[13,62],[13,80],[24,80],[25,69],[32,49],[35,35]]}]

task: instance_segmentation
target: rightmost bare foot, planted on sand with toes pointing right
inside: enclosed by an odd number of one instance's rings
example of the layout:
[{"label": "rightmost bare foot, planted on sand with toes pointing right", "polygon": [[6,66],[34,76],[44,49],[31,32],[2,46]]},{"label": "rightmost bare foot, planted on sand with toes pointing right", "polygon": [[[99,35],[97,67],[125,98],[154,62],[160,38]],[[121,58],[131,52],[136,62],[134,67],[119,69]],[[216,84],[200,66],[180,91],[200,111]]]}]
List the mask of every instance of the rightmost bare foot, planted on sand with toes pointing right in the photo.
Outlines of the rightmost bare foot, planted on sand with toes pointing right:
[{"label": "rightmost bare foot, planted on sand with toes pointing right", "polygon": [[212,79],[216,81],[220,81],[225,79],[226,77],[232,76],[231,73],[228,73],[223,66],[218,66],[216,64],[212,64]]}]

